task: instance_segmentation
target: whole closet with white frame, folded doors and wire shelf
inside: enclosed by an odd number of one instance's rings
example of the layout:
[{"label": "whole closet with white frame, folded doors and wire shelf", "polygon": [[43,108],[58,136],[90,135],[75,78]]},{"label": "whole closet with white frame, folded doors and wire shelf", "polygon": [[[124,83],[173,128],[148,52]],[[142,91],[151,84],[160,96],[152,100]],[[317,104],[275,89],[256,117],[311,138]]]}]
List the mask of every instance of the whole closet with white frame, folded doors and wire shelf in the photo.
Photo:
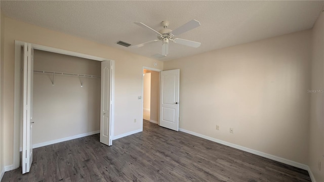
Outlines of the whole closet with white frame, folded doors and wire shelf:
[{"label": "whole closet with white frame, folded doors and wire shelf", "polygon": [[96,133],[112,145],[113,60],[15,40],[14,95],[13,169],[29,172],[33,148]]}]

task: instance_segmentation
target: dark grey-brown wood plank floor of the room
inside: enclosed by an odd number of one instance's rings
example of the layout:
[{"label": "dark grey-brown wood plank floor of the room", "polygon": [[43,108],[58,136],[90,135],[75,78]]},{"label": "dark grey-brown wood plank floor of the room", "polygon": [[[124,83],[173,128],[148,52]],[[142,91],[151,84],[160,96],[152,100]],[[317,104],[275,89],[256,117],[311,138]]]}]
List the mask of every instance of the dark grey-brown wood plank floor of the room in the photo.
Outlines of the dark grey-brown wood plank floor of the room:
[{"label": "dark grey-brown wood plank floor of the room", "polygon": [[34,149],[30,172],[2,181],[311,181],[296,167],[148,121],[143,128],[110,147],[95,134]]}]

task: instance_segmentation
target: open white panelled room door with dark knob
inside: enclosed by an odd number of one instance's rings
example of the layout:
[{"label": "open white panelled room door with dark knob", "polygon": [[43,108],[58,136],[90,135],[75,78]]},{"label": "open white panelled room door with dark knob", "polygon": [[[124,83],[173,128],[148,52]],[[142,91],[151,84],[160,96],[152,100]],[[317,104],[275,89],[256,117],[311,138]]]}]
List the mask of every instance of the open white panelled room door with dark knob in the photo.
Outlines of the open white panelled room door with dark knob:
[{"label": "open white panelled room door with dark knob", "polygon": [[159,125],[179,130],[179,75],[180,69],[160,72]]}]

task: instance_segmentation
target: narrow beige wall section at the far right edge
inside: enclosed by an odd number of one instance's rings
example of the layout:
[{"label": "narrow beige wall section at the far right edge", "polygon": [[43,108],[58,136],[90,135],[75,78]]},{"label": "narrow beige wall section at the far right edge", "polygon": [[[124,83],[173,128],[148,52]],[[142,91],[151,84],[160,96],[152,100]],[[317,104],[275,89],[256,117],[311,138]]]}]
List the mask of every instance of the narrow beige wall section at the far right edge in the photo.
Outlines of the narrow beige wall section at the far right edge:
[{"label": "narrow beige wall section at the far right edge", "polygon": [[[316,181],[324,181],[324,12],[312,29],[309,167]],[[319,92],[317,91],[319,90]],[[321,162],[320,170],[318,163]]]}]

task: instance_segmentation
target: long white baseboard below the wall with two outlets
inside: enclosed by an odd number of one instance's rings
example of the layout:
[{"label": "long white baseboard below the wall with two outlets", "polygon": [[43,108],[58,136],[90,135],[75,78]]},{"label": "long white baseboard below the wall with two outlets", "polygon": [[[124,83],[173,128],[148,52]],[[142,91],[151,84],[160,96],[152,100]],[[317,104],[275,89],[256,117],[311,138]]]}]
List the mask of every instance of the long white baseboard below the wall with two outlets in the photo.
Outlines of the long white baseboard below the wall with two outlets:
[{"label": "long white baseboard below the wall with two outlets", "polygon": [[182,128],[179,128],[179,131],[182,131],[182,132],[185,132],[185,133],[188,133],[188,134],[192,134],[192,135],[198,136],[200,138],[203,138],[203,139],[206,139],[206,140],[209,140],[209,141],[213,141],[213,142],[216,142],[216,143],[219,143],[219,144],[223,144],[225,146],[232,147],[232,148],[235,148],[235,149],[238,149],[238,150],[241,150],[241,151],[249,152],[249,153],[261,156],[261,157],[265,157],[265,158],[272,159],[272,160],[275,160],[275,161],[278,161],[278,162],[281,162],[281,163],[284,163],[284,164],[288,164],[288,165],[291,165],[291,166],[294,166],[294,167],[298,167],[298,168],[301,168],[301,169],[304,169],[304,170],[309,169],[309,167],[307,165],[305,165],[305,164],[301,164],[301,163],[298,163],[298,162],[295,162],[295,161],[292,161],[292,160],[284,159],[284,158],[277,157],[277,156],[274,156],[274,155],[271,155],[271,154],[267,154],[267,153],[263,153],[263,152],[256,151],[256,150],[253,150],[253,149],[249,149],[249,148],[246,148],[246,147],[242,147],[242,146],[239,146],[239,145],[236,145],[236,144],[231,144],[229,142],[225,142],[225,141],[222,141],[222,140],[214,139],[214,138],[211,138],[210,136],[206,136],[206,135],[199,134],[199,133],[196,133],[196,132],[192,132],[192,131],[182,129]]}]

